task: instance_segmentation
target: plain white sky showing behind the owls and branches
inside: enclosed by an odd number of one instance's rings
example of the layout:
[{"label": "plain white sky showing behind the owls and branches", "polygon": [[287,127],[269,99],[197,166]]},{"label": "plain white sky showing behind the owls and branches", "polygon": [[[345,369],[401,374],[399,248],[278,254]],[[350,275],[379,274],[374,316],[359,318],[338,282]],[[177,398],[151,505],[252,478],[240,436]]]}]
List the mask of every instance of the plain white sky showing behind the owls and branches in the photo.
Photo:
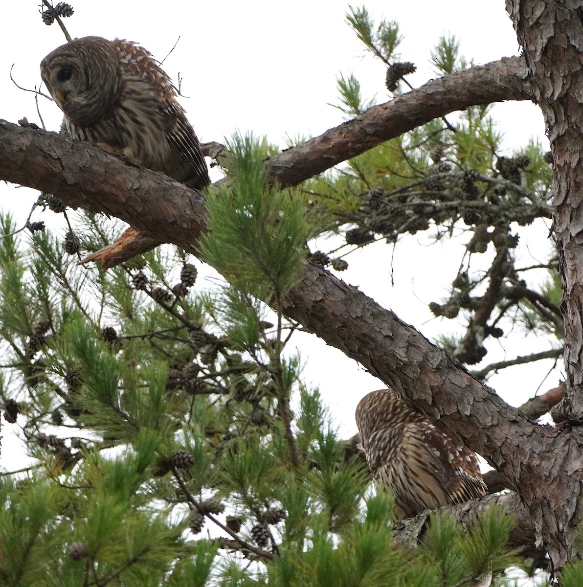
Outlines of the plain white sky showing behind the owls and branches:
[{"label": "plain white sky showing behind the owls and branches", "polygon": [[[169,52],[178,36],[176,49],[164,69],[178,81],[181,100],[201,141],[223,141],[235,130],[252,130],[267,135],[272,143],[285,146],[284,137],[322,133],[340,124],[342,113],[328,106],[338,101],[336,76],[354,73],[366,97],[376,95],[386,102],[385,68],[362,45],[346,24],[348,4],[338,0],[181,2],[178,0],[77,0],[75,15],[66,19],[70,34],[127,38],[141,43],[159,59]],[[386,2],[368,0],[371,15],[383,14],[400,23],[405,40],[400,46],[403,60],[417,65],[409,76],[413,86],[422,85],[435,74],[429,69],[430,50],[440,35],[453,33],[461,41],[461,52],[476,64],[518,53],[517,41],[503,0],[435,2]],[[32,88],[40,82],[39,62],[65,38],[58,25],[45,26],[35,1],[18,0],[2,5],[4,21],[0,38],[0,118],[17,122],[26,116],[39,123],[32,93],[15,87]],[[60,111],[46,100],[41,113],[49,130],[58,130]],[[494,117],[506,130],[504,147],[520,147],[529,137],[544,138],[540,110],[530,103],[496,106]],[[23,221],[38,194],[32,190],[0,185],[0,205]],[[39,220],[49,220],[46,213]],[[528,231],[521,247],[544,260],[548,232]],[[464,239],[467,241],[469,237]],[[387,245],[375,245],[348,258],[351,268],[340,276],[393,309],[429,337],[445,326],[427,309],[430,301],[446,295],[463,251],[449,242],[426,246],[423,238],[410,237],[397,247],[393,260]],[[525,247],[525,245],[527,245]],[[322,247],[323,248],[323,247]],[[210,283],[210,282],[209,282]],[[490,350],[484,363],[543,350],[542,340],[522,336],[488,340]],[[314,336],[303,335],[301,345],[307,364],[305,379],[318,385],[343,434],[356,431],[354,409],[359,399],[382,386],[341,352],[326,347]],[[532,396],[552,362],[502,372],[491,384],[508,402],[520,404]],[[544,391],[554,387],[558,373],[542,383]],[[5,463],[6,464],[6,463]]]}]

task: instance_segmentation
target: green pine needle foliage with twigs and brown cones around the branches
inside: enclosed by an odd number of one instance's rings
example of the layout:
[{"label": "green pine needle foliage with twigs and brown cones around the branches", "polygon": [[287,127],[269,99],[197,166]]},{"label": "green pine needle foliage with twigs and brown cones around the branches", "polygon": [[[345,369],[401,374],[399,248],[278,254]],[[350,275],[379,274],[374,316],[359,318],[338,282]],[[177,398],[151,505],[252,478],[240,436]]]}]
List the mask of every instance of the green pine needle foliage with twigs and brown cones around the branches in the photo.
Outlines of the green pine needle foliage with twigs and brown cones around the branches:
[{"label": "green pine needle foliage with twigs and brown cones around the branches", "polygon": [[[43,20],[70,16],[62,4]],[[348,21],[400,95],[414,65],[395,60],[397,24],[376,25],[364,8]],[[446,75],[471,66],[453,37],[432,59]],[[338,86],[347,116],[372,106],[354,75]],[[540,290],[514,254],[521,227],[551,216],[552,156],[535,143],[500,154],[483,105],[380,142],[301,187],[274,180],[267,140],[235,135],[226,147],[228,182],[207,194],[196,249],[225,276],[219,291],[199,289],[186,246],[107,272],[77,265],[119,234],[103,215],[80,212],[64,239],[0,219],[2,417],[32,462],[0,476],[0,585],[478,585],[503,581],[511,565],[541,565],[525,560],[540,550],[514,549],[524,546],[514,512],[490,502],[466,525],[456,511],[423,514],[407,527],[417,524],[409,548],[397,544],[391,496],[372,495],[362,457],[301,379],[290,300],[306,266],[339,271],[347,250],[378,239],[394,247],[407,234],[441,240],[461,230],[467,255],[451,294],[430,309],[463,315],[467,328],[441,346],[474,365],[488,338],[519,325],[548,336],[544,356],[558,357],[557,252],[542,264]],[[54,195],[38,205],[64,210]],[[346,245],[310,252],[331,233]],[[480,255],[489,255],[485,270]],[[574,562],[559,577],[575,585],[581,573]]]}]

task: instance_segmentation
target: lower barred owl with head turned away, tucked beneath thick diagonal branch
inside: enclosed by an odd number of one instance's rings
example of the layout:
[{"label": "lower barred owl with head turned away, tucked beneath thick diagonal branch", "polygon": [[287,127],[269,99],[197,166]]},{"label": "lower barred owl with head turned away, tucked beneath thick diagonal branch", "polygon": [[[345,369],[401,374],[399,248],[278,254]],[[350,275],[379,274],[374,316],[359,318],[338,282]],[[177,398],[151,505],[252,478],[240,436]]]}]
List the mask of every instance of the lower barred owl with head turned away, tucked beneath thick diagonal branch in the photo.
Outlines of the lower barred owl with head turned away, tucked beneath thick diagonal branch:
[{"label": "lower barred owl with head turned away, tucked beneath thick diagonal branch", "polygon": [[376,488],[395,494],[397,517],[486,494],[476,454],[388,389],[367,394],[356,425]]}]

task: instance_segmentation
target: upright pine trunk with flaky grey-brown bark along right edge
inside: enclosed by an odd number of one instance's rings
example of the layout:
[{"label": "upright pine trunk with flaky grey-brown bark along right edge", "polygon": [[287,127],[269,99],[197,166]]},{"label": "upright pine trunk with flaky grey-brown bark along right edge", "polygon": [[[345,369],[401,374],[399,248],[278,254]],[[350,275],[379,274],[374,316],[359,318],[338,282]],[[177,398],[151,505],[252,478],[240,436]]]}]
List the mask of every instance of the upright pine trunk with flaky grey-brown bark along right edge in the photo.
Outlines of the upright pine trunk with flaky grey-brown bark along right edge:
[{"label": "upright pine trunk with flaky grey-brown bark along right edge", "polygon": [[[554,231],[561,255],[562,313],[565,323],[567,390],[556,416],[583,423],[583,8],[575,0],[507,0],[518,42],[547,124],[554,157]],[[572,429],[572,433],[577,428]],[[557,433],[560,434],[560,433]],[[566,432],[565,432],[566,434]],[[580,458],[580,457],[577,457]],[[560,471],[559,471],[560,472]],[[581,484],[557,487],[555,509],[540,504],[541,518],[555,564],[572,554]],[[524,496],[523,496],[524,497]],[[537,497],[525,497],[529,507]],[[548,504],[551,506],[551,504]],[[551,522],[552,521],[552,522]]]}]

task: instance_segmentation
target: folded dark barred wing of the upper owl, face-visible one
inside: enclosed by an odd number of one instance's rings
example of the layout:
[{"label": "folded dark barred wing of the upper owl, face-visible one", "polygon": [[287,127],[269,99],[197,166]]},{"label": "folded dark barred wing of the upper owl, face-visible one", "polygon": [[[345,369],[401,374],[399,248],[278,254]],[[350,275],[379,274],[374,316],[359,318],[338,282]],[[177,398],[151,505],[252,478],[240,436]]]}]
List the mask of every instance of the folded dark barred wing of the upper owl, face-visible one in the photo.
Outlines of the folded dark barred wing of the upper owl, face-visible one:
[{"label": "folded dark barred wing of the upper owl, face-visible one", "polygon": [[207,164],[200,149],[200,143],[193,127],[186,119],[186,114],[177,102],[167,102],[164,106],[168,124],[164,132],[171,146],[186,161],[183,181],[193,188],[203,188],[210,184]]}]

